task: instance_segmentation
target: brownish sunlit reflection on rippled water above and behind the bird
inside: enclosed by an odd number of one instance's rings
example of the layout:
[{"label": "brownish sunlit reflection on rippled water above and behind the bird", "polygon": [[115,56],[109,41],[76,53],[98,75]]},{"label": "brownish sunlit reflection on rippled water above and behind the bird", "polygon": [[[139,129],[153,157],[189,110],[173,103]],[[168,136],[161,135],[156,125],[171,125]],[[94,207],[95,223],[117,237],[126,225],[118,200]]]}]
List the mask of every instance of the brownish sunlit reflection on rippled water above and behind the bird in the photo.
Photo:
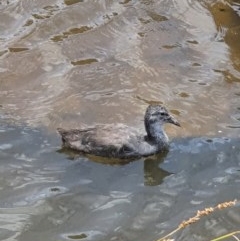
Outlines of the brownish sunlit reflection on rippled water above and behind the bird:
[{"label": "brownish sunlit reflection on rippled water above and behind the bird", "polygon": [[[147,99],[182,115],[185,128],[171,130],[173,136],[234,135],[230,127],[239,121],[229,115],[239,82],[227,44],[235,56],[238,51],[233,37],[214,37],[217,19],[224,21],[214,11],[218,4],[9,1],[2,9],[2,113],[52,130],[79,123],[135,125],[145,109],[140,99]],[[17,23],[10,14],[16,9]]]}]

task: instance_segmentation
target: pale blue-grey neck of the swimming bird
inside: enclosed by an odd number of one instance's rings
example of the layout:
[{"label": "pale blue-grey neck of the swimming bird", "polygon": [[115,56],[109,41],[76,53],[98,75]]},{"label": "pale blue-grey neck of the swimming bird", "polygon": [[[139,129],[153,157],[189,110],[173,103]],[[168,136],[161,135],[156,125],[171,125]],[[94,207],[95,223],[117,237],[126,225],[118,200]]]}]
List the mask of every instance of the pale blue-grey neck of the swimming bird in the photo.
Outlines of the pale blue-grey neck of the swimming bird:
[{"label": "pale blue-grey neck of the swimming bird", "polygon": [[147,132],[147,138],[149,141],[157,144],[168,144],[168,136],[163,129],[163,125],[159,122],[146,123],[145,128]]}]

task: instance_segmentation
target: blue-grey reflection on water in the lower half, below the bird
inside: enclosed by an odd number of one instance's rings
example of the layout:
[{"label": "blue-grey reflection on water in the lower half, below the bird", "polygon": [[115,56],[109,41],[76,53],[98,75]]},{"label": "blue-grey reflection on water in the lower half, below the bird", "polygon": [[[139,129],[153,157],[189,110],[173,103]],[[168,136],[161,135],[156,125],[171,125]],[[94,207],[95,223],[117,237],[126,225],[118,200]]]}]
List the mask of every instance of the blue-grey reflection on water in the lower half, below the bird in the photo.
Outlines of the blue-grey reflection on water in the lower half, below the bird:
[{"label": "blue-grey reflection on water in the lower half, below the bird", "polygon": [[[0,142],[2,239],[154,239],[196,209],[240,196],[238,139],[179,138],[168,153],[121,165],[56,152],[60,138],[42,129],[5,125]],[[194,227],[182,235],[205,230]]]}]

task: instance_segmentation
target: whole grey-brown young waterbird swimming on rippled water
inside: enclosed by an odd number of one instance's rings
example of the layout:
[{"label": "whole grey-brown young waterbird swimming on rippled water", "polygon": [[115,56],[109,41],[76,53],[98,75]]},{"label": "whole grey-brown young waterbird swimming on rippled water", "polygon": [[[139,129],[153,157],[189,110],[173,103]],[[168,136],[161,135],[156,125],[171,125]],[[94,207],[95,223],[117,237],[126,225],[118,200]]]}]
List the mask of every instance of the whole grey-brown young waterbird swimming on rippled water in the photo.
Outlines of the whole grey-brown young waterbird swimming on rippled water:
[{"label": "whole grey-brown young waterbird swimming on rippled water", "polygon": [[145,112],[146,133],[122,123],[99,124],[84,129],[57,128],[62,146],[95,156],[110,158],[137,158],[168,150],[169,139],[163,129],[166,123],[179,122],[159,104],[150,104]]}]

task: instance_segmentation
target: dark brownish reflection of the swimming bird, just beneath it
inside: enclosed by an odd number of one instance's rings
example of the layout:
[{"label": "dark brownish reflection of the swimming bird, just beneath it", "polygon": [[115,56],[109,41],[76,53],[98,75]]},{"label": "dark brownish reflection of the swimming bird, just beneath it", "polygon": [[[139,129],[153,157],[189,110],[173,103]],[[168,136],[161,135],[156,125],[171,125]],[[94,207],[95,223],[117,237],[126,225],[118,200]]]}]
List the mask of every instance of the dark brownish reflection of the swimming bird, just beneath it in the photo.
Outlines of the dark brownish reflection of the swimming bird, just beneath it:
[{"label": "dark brownish reflection of the swimming bird, just beneath it", "polygon": [[89,154],[82,154],[76,152],[74,150],[68,148],[61,148],[57,150],[58,153],[63,153],[67,155],[69,160],[76,160],[80,157],[87,157],[88,160],[93,161],[95,163],[101,163],[105,165],[126,165],[131,162],[143,161],[143,171],[144,171],[144,185],[145,186],[157,186],[163,182],[163,179],[166,176],[171,175],[172,173],[165,171],[164,169],[160,168],[159,165],[164,161],[166,158],[168,151],[162,152],[157,155],[153,155],[146,158],[138,158],[138,159],[117,159],[117,158],[109,158],[109,157],[101,157],[101,156],[94,156]]}]

